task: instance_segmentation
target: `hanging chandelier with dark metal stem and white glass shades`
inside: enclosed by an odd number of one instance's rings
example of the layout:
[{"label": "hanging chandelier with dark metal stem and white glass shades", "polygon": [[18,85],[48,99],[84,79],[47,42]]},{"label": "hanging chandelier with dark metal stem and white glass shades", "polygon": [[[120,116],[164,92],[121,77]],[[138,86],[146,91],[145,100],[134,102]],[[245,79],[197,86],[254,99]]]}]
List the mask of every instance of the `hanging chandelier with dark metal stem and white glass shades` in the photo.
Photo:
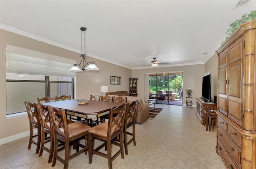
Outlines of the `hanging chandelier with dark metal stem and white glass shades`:
[{"label": "hanging chandelier with dark metal stem and white glass shades", "polygon": [[[79,64],[74,64],[74,66],[72,66],[69,71],[74,71],[74,72],[81,72],[81,71],[84,71],[85,69],[86,70],[92,70],[92,71],[98,71],[100,70],[96,65],[95,65],[95,62],[94,61],[91,61],[91,62],[86,62],[85,60],[85,57],[86,57],[86,50],[85,50],[85,31],[86,31],[86,28],[85,27],[81,27],[80,28],[81,30],[81,55],[80,57],[82,57],[82,60]],[[84,53],[83,53],[83,31],[84,31]],[[86,67],[86,65],[88,65]],[[79,68],[79,66],[82,68],[82,70]]]}]

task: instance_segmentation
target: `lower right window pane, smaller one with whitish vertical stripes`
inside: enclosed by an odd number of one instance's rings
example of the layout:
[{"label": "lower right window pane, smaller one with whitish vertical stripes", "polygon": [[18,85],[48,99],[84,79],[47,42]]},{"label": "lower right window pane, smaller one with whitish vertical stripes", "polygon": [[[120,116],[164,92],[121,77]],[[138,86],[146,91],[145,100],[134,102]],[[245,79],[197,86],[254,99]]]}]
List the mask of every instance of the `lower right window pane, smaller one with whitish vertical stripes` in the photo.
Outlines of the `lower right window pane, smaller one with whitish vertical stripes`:
[{"label": "lower right window pane, smaller one with whitish vertical stripes", "polygon": [[50,96],[71,95],[73,97],[73,86],[74,83],[50,83]]}]

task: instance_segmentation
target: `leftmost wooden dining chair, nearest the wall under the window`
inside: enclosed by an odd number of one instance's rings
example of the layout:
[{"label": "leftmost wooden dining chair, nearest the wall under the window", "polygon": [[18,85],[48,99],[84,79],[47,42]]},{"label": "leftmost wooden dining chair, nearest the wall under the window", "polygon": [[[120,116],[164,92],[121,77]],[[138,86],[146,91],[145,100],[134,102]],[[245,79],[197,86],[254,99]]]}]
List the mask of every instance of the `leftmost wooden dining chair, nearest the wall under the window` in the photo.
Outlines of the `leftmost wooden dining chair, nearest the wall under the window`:
[{"label": "leftmost wooden dining chair, nearest the wall under the window", "polygon": [[[41,144],[41,126],[38,111],[36,108],[36,103],[31,102],[24,102],[26,106],[26,111],[28,114],[28,121],[29,121],[29,142],[28,142],[28,149],[31,148],[31,144],[36,145],[36,154],[39,153],[40,144]],[[37,134],[33,134],[33,128],[37,129]],[[33,138],[37,136],[37,141],[34,141]]]}]

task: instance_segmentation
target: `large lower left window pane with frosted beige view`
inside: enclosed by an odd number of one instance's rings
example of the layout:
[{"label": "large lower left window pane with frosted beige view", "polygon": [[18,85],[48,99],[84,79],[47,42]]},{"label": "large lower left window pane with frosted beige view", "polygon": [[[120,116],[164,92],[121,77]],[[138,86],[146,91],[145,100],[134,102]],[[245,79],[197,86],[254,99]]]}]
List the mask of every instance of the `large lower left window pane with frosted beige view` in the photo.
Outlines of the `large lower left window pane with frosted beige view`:
[{"label": "large lower left window pane with frosted beige view", "polygon": [[26,112],[25,101],[37,102],[45,96],[45,83],[6,82],[6,114]]}]

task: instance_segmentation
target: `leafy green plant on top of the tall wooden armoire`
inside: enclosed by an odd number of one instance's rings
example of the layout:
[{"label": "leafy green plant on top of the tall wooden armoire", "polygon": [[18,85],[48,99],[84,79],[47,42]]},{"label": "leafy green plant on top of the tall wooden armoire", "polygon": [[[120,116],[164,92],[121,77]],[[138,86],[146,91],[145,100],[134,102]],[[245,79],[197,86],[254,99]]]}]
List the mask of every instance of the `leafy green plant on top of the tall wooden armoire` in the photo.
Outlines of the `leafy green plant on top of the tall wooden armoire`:
[{"label": "leafy green plant on top of the tall wooden armoire", "polygon": [[[242,15],[240,19],[231,23],[229,25],[230,28],[226,32],[227,37],[224,41],[226,41],[228,39],[228,37],[230,37],[230,35],[232,35],[240,27],[241,24],[243,24],[244,22],[250,21],[250,20],[254,20],[254,19],[256,19],[256,10],[250,11],[250,14]],[[224,41],[222,43],[224,43]]]}]

